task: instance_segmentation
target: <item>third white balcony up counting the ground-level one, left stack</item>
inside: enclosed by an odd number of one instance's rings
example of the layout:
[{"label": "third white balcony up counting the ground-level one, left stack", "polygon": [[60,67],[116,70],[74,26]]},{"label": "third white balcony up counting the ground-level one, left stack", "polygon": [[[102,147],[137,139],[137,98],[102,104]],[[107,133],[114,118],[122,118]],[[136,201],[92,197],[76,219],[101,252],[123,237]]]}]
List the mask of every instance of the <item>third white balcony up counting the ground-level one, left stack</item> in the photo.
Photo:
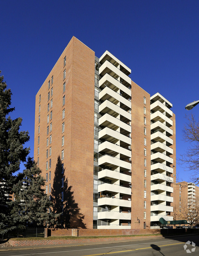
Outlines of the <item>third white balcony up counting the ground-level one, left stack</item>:
[{"label": "third white balcony up counting the ground-level one, left stack", "polygon": [[112,197],[102,197],[98,198],[97,201],[98,206],[102,205],[113,205],[113,206],[121,206],[121,207],[131,207],[131,200],[122,200],[119,198]]}]

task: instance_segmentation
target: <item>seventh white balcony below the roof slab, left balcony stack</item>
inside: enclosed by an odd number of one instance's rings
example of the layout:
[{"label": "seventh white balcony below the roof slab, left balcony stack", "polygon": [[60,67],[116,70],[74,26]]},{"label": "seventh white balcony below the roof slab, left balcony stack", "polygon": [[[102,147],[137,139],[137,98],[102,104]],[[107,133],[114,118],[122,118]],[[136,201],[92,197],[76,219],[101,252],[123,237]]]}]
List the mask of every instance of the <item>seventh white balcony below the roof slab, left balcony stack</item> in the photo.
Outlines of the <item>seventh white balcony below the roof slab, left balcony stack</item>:
[{"label": "seventh white balcony below the roof slab, left balcony stack", "polygon": [[113,152],[120,153],[122,155],[125,155],[127,157],[131,157],[131,151],[129,149],[125,149],[120,147],[119,145],[113,144],[111,142],[105,141],[98,145],[98,152],[103,151],[106,154],[111,154]]}]

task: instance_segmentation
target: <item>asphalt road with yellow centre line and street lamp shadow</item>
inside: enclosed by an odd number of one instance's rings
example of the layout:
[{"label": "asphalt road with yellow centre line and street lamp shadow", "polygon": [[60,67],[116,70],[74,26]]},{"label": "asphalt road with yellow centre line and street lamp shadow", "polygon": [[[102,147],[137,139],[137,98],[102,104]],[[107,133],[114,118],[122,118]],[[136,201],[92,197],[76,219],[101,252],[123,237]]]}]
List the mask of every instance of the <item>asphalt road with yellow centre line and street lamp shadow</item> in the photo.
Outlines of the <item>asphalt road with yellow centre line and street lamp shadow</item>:
[{"label": "asphalt road with yellow centre line and street lamp shadow", "polygon": [[[186,244],[187,241],[193,241],[196,246]],[[184,250],[184,245],[187,245],[186,250],[195,248],[191,254],[187,254]],[[153,239],[144,241],[133,241],[125,243],[75,246],[75,247],[59,247],[46,248],[35,250],[17,250],[0,252],[0,256],[182,256],[182,255],[199,255],[199,235],[183,236],[167,239]]]}]

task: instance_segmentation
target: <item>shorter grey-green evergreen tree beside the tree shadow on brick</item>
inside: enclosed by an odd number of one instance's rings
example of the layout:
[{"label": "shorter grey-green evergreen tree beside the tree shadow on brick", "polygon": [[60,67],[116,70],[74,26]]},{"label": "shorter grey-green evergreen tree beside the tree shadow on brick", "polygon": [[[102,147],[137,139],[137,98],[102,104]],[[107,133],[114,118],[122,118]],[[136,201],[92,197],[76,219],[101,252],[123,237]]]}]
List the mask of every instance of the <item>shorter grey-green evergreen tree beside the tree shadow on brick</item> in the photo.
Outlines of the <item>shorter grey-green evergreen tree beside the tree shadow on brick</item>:
[{"label": "shorter grey-green evergreen tree beside the tree shadow on brick", "polygon": [[12,202],[11,211],[13,222],[18,227],[43,226],[55,223],[55,219],[61,214],[54,214],[49,209],[52,202],[44,193],[45,179],[41,176],[41,169],[31,157],[25,164],[26,169],[18,174],[18,182],[13,188],[15,201]]}]

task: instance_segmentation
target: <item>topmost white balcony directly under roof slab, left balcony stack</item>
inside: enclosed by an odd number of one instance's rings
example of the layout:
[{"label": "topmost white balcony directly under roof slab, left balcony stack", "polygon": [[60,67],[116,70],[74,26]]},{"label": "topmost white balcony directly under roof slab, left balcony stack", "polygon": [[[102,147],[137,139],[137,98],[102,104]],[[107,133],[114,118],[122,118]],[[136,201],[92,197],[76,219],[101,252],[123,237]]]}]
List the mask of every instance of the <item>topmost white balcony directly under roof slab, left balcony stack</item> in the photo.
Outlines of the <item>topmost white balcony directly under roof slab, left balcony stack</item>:
[{"label": "topmost white balcony directly under roof slab, left balcony stack", "polygon": [[119,76],[122,78],[122,80],[125,80],[127,83],[131,85],[131,78],[127,75],[125,75],[119,68],[115,67],[111,62],[106,60],[101,67],[99,68],[99,75],[104,76],[106,73],[108,73],[111,76]]}]

